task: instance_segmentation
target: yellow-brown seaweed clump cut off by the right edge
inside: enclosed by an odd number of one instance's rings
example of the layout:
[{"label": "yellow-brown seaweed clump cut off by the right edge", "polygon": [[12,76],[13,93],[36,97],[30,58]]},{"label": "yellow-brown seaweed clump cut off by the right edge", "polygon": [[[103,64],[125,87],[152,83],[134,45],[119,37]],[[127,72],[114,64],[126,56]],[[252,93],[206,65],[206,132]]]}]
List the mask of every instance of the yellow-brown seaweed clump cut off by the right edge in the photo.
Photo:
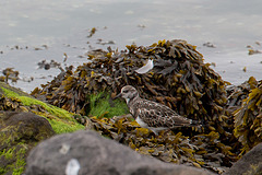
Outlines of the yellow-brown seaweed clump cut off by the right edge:
[{"label": "yellow-brown seaweed clump cut off by the right edge", "polygon": [[241,145],[241,154],[262,142],[262,81],[251,77],[235,88],[229,96],[229,106],[236,106],[234,135]]}]

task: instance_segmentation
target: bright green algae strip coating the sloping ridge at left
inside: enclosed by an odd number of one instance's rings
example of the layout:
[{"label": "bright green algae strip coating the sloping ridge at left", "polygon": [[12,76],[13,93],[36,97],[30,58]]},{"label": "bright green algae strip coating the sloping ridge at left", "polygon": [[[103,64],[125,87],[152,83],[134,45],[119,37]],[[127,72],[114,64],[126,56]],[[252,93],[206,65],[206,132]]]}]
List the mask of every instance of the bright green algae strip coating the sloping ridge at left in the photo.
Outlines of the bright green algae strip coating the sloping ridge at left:
[{"label": "bright green algae strip coating the sloping ridge at left", "polygon": [[76,122],[75,119],[71,117],[72,114],[64,109],[61,109],[52,105],[48,105],[41,101],[38,101],[29,96],[20,95],[19,93],[10,91],[5,88],[1,88],[1,89],[7,97],[17,98],[25,106],[32,106],[32,105],[41,106],[41,108],[44,108],[48,113],[40,113],[40,112],[39,113],[34,112],[34,113],[36,113],[41,117],[47,118],[56,133],[73,132],[80,129],[84,129],[84,126]]}]

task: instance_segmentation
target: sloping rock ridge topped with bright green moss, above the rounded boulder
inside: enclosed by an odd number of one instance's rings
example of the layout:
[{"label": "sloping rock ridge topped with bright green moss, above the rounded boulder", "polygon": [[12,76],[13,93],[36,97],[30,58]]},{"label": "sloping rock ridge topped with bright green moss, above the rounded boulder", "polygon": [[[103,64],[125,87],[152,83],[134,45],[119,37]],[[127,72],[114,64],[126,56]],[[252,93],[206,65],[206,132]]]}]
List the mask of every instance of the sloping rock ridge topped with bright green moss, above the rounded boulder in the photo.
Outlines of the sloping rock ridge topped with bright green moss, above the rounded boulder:
[{"label": "sloping rock ridge topped with bright green moss, above the rounded boulder", "polygon": [[48,119],[56,133],[84,129],[69,113],[0,82],[0,110],[32,112]]}]

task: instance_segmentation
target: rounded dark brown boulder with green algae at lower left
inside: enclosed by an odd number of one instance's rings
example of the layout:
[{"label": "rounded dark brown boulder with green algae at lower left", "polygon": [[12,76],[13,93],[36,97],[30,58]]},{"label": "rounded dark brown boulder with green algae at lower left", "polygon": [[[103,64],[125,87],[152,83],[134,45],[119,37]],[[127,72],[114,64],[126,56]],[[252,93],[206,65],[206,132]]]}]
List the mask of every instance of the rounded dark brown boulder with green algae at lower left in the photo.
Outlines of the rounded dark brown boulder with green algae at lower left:
[{"label": "rounded dark brown boulder with green algae at lower left", "polygon": [[22,174],[31,149],[53,135],[48,120],[33,113],[0,112],[0,174]]}]

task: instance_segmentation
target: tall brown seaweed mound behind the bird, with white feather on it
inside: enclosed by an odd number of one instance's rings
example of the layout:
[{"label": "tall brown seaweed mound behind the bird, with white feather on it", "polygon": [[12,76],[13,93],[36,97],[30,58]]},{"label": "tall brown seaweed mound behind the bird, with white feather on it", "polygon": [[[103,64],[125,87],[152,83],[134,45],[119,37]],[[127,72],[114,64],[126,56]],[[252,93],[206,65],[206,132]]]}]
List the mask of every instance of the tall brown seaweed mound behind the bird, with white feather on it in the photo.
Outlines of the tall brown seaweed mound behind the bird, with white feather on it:
[{"label": "tall brown seaweed mound behind the bird, with white feather on it", "polygon": [[[122,51],[94,50],[88,52],[88,59],[92,61],[75,71],[68,68],[32,94],[69,112],[88,115],[91,94],[110,92],[114,96],[130,84],[142,97],[209,122],[207,130],[225,132],[227,83],[187,42],[159,40],[147,47],[127,46]],[[139,73],[136,70],[148,60],[153,60],[153,69]]]}]

